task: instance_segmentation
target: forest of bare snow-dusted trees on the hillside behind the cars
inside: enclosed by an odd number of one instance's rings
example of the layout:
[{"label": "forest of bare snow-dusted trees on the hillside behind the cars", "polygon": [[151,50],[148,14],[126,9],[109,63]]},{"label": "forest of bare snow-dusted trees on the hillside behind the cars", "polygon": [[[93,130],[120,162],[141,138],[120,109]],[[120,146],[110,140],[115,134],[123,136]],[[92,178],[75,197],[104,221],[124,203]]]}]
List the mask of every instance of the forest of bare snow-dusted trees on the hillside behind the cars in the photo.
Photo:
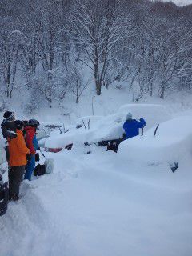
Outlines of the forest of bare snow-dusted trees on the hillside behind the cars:
[{"label": "forest of bare snow-dusted trees on the hillside behind the cars", "polygon": [[[127,94],[192,91],[192,5],[149,0],[2,0],[1,109],[81,100],[90,84],[125,83]],[[121,89],[121,86],[119,86]]]}]

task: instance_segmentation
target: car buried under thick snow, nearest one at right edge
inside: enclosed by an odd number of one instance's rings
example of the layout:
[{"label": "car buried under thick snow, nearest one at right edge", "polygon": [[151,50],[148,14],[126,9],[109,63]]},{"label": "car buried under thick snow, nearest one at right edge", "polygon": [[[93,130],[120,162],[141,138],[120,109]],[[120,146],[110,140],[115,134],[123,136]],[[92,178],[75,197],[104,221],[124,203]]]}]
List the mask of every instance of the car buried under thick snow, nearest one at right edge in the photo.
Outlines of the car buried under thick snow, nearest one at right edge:
[{"label": "car buried under thick snow, nearest one at right edge", "polygon": [[192,157],[191,120],[191,116],[174,118],[152,127],[142,137],[122,142],[118,147],[119,158],[125,163],[167,164],[171,169],[177,168],[179,162]]}]

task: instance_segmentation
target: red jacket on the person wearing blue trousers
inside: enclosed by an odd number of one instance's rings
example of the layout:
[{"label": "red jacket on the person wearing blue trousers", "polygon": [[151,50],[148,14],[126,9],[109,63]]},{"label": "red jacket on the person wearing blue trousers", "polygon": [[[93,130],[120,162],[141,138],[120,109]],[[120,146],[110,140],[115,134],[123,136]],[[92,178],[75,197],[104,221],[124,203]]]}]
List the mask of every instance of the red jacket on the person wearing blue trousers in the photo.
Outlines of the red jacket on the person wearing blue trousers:
[{"label": "red jacket on the person wearing blue trousers", "polygon": [[26,126],[25,131],[26,146],[30,149],[31,154],[35,154],[36,150],[38,149],[36,129],[32,126]]}]

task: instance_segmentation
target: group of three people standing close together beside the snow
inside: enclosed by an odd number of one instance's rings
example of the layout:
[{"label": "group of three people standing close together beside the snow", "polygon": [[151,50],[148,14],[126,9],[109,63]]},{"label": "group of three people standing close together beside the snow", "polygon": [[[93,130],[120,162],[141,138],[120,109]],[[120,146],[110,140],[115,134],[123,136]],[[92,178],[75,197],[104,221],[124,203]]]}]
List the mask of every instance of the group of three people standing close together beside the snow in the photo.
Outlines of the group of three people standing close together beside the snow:
[{"label": "group of three people standing close together beside the snow", "polygon": [[39,122],[15,120],[13,112],[6,111],[1,124],[2,135],[6,138],[6,160],[9,166],[9,200],[17,201],[22,178],[31,179],[38,150],[36,131]]}]

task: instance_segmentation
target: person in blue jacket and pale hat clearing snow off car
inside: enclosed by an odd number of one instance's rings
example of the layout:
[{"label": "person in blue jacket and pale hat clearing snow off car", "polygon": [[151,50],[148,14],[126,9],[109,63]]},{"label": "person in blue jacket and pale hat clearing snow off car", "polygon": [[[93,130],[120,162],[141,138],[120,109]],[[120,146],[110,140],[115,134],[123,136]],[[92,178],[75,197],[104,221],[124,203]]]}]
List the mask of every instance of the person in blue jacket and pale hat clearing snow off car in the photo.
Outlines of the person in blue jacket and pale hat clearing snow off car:
[{"label": "person in blue jacket and pale hat clearing snow off car", "polygon": [[146,126],[146,121],[143,118],[139,119],[140,122],[132,118],[132,114],[126,115],[126,122],[124,122],[123,129],[126,132],[126,138],[132,138],[139,134],[139,128]]}]

